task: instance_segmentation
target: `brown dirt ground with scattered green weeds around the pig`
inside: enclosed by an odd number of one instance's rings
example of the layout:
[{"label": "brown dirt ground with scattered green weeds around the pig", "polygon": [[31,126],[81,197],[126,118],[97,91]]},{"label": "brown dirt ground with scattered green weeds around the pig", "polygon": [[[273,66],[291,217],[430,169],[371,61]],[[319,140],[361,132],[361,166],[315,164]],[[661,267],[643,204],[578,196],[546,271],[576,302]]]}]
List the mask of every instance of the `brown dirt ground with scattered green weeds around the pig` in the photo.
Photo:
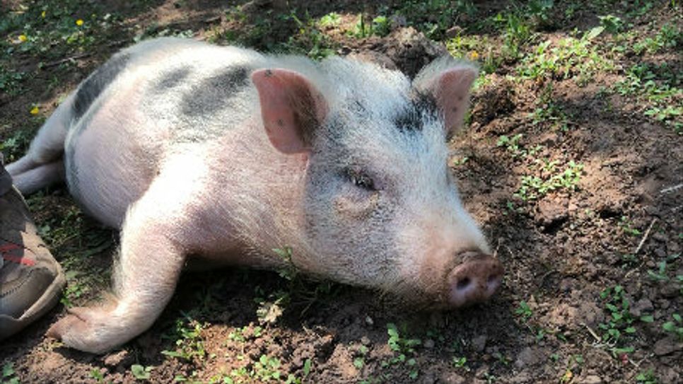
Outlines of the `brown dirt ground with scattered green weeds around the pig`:
[{"label": "brown dirt ground with scattered green weeds around the pig", "polygon": [[95,356],[45,331],[69,306],[102,297],[117,233],[84,216],[64,186],[50,187],[28,202],[69,286],[49,315],[2,342],[1,383],[681,383],[682,9],[3,1],[0,149],[9,161],[79,81],[150,37],[356,54],[407,74],[446,51],[478,62],[451,165],[506,277],[489,303],[423,312],[276,272],[187,273],[150,330]]}]

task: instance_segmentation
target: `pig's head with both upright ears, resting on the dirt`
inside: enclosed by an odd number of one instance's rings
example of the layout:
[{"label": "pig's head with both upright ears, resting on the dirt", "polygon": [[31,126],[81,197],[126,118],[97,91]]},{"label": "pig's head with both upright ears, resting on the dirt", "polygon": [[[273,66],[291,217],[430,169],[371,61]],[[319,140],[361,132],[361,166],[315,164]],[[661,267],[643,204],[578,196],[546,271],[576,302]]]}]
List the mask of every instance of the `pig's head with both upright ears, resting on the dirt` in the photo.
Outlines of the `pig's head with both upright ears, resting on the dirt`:
[{"label": "pig's head with both upright ears, resting on the dirt", "polygon": [[322,69],[317,86],[286,69],[252,74],[273,146],[308,153],[305,267],[441,306],[489,298],[503,269],[448,168],[477,71],[450,57],[414,81],[342,59]]}]

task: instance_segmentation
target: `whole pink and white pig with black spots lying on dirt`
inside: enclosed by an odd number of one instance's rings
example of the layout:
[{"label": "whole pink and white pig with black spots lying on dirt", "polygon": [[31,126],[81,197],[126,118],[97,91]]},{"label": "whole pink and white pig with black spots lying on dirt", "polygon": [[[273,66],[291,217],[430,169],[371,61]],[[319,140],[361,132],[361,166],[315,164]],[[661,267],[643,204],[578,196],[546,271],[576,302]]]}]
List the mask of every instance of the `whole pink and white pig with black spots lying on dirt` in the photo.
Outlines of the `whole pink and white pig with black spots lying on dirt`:
[{"label": "whole pink and white pig with black spots lying on dirt", "polygon": [[120,228],[113,294],[49,328],[102,354],[147,330],[192,257],[301,271],[456,308],[503,267],[462,207],[448,137],[477,69],[450,56],[413,79],[331,57],[161,38],[115,54],[7,166],[21,192],[66,181]]}]

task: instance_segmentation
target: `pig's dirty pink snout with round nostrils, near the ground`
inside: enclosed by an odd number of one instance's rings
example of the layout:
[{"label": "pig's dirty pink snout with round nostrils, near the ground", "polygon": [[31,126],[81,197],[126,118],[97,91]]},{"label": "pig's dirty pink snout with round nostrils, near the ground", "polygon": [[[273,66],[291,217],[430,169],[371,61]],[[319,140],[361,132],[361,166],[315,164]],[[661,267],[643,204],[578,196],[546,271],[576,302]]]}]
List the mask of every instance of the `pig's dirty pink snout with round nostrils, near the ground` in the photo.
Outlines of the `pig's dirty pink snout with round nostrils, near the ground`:
[{"label": "pig's dirty pink snout with round nostrils, near the ground", "polygon": [[460,263],[448,274],[450,306],[460,307],[490,298],[503,280],[498,260],[478,252],[458,255]]}]

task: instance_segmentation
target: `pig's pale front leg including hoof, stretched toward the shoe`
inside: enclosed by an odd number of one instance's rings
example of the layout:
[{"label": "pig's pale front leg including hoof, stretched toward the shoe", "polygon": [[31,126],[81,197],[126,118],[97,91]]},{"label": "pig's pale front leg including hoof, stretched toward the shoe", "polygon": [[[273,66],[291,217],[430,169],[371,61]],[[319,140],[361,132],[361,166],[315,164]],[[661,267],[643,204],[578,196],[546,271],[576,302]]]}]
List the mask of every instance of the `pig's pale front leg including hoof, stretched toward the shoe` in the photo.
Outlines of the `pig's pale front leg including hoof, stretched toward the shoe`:
[{"label": "pig's pale front leg including hoof, stretched toward the shoe", "polygon": [[[173,174],[173,173],[171,173]],[[195,180],[163,178],[153,182],[129,210],[115,263],[111,303],[73,308],[47,331],[69,347],[104,353],[151,327],[177,284],[187,253]]]}]

